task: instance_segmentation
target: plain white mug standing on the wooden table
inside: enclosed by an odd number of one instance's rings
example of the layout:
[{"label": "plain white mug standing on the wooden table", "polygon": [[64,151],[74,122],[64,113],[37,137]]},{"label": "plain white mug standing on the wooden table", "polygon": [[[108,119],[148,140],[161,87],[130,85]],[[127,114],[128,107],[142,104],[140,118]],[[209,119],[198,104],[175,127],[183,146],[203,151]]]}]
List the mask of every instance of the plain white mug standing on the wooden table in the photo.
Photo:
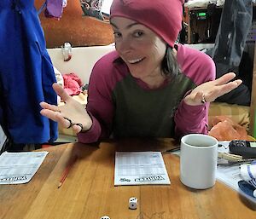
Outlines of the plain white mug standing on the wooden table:
[{"label": "plain white mug standing on the wooden table", "polygon": [[180,150],[181,182],[196,189],[212,187],[216,182],[217,139],[202,134],[184,135]]}]

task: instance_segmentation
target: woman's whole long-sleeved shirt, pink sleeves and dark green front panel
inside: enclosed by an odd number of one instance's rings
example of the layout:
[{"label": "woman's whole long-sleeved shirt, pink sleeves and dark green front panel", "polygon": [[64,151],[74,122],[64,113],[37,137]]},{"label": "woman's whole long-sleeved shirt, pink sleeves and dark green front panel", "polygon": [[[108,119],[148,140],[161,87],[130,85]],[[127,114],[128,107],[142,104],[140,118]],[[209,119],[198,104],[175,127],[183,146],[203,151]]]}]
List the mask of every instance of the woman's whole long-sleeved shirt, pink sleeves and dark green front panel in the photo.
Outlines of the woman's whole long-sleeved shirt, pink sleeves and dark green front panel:
[{"label": "woman's whole long-sleeved shirt, pink sleeves and dark green front panel", "polygon": [[96,62],[86,106],[93,124],[79,133],[80,142],[116,137],[181,137],[207,134],[209,103],[189,106],[183,98],[197,85],[215,78],[215,65],[204,53],[177,45],[177,62],[183,73],[166,80],[159,89],[133,78],[116,51]]}]

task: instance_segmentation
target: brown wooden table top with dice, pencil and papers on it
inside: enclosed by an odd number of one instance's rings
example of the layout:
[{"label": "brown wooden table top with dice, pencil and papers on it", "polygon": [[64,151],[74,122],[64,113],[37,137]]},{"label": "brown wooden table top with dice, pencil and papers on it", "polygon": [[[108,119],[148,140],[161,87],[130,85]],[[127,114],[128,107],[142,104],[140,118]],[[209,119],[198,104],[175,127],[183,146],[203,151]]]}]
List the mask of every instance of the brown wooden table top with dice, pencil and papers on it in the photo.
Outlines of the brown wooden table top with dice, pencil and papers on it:
[{"label": "brown wooden table top with dice, pencil and papers on it", "polygon": [[[0,218],[6,219],[251,219],[253,206],[238,193],[217,182],[207,190],[192,190],[179,180],[179,158],[166,149],[168,139],[105,141],[98,146],[79,143],[48,147],[49,154],[31,182],[0,185]],[[162,151],[171,185],[113,186],[114,153]],[[79,156],[62,187],[62,172]],[[137,210],[128,200],[137,197]]]}]

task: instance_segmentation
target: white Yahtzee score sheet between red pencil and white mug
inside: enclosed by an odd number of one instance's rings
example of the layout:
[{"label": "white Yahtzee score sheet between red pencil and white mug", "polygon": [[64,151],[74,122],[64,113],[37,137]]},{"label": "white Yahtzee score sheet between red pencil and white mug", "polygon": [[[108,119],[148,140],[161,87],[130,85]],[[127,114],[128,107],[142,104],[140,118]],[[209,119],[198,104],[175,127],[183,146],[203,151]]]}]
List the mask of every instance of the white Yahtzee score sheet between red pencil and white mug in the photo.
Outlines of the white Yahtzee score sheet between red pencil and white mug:
[{"label": "white Yahtzee score sheet between red pencil and white mug", "polygon": [[114,185],[171,184],[160,152],[116,152]]}]

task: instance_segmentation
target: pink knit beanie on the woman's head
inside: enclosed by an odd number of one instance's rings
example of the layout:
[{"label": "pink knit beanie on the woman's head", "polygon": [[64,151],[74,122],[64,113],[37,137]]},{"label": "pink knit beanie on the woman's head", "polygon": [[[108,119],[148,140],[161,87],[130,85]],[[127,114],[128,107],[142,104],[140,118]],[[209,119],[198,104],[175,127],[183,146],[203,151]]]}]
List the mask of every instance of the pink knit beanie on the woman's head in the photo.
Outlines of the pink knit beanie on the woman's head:
[{"label": "pink knit beanie on the woman's head", "polygon": [[125,17],[147,26],[173,47],[181,30],[183,0],[113,0],[110,20]]}]

